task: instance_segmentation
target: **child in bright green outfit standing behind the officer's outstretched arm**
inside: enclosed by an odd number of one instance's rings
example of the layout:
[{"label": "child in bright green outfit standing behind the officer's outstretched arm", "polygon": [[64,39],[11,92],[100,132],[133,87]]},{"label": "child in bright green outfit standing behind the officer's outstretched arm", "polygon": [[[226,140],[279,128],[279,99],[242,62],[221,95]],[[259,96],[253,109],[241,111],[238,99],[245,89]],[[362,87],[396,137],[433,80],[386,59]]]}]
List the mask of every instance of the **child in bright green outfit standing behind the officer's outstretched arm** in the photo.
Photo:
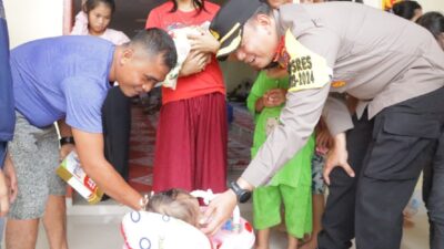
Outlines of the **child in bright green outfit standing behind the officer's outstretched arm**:
[{"label": "child in bright green outfit standing behind the officer's outstretched arm", "polygon": [[[260,72],[246,100],[254,115],[255,129],[252,157],[279,124],[285,103],[289,79],[270,79]],[[258,230],[258,249],[269,248],[270,228],[281,222],[281,204],[285,207],[289,249],[297,248],[297,239],[312,230],[312,173],[314,136],[290,159],[265,187],[253,191],[253,226]]]}]

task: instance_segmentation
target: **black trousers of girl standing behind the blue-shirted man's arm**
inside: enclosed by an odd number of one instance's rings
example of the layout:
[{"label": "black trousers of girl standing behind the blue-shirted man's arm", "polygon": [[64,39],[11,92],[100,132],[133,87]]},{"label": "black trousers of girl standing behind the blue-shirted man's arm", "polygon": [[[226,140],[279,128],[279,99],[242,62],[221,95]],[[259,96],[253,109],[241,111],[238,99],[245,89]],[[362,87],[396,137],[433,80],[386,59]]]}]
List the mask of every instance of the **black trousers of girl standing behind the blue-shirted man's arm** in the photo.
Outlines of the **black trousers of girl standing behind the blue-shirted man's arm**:
[{"label": "black trousers of girl standing behind the blue-shirted man's arm", "polygon": [[128,181],[131,133],[131,98],[120,87],[108,91],[102,106],[104,156]]}]

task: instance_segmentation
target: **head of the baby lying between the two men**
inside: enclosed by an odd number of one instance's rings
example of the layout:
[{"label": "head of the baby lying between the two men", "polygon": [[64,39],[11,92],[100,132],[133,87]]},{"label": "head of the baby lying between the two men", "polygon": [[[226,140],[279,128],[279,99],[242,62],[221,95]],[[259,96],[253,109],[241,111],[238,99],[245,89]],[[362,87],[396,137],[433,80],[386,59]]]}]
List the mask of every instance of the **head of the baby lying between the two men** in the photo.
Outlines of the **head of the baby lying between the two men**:
[{"label": "head of the baby lying between the two men", "polygon": [[194,227],[199,227],[199,201],[188,191],[172,188],[150,197],[147,211],[168,215],[181,219]]}]

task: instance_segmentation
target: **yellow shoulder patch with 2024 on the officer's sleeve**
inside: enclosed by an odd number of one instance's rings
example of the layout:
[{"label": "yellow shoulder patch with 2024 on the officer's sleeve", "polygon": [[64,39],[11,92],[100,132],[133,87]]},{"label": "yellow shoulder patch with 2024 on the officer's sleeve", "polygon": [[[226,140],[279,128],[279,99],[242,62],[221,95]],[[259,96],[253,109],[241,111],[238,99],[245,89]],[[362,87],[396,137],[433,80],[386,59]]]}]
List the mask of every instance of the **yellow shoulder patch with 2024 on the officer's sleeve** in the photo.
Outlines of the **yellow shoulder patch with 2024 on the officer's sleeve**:
[{"label": "yellow shoulder patch with 2024 on the officer's sleeve", "polygon": [[333,70],[326,60],[299,42],[290,30],[285,33],[285,49],[290,54],[290,92],[321,89],[330,83]]}]

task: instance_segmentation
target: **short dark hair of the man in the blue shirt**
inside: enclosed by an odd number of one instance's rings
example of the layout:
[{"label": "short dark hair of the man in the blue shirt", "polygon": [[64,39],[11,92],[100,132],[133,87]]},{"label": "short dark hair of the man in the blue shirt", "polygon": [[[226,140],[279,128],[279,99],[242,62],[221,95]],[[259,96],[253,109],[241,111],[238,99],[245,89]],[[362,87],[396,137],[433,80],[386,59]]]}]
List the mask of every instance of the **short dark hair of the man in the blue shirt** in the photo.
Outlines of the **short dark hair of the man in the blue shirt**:
[{"label": "short dark hair of the man in the blue shirt", "polygon": [[139,31],[138,34],[131,40],[130,44],[141,46],[143,52],[149,55],[163,55],[163,63],[170,70],[174,68],[178,62],[178,53],[173,39],[163,30],[158,28],[150,28]]}]

